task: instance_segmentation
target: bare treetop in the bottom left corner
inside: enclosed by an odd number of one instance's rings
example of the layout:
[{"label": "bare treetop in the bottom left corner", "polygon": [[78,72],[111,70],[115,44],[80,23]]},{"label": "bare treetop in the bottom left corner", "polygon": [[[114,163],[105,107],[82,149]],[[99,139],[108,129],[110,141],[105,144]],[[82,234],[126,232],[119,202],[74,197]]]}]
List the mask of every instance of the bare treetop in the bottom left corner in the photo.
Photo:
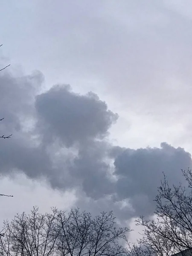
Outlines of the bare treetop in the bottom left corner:
[{"label": "bare treetop in the bottom left corner", "polygon": [[51,256],[58,236],[57,209],[41,214],[34,207],[31,214],[16,215],[4,221],[4,236],[0,237],[2,256]]}]

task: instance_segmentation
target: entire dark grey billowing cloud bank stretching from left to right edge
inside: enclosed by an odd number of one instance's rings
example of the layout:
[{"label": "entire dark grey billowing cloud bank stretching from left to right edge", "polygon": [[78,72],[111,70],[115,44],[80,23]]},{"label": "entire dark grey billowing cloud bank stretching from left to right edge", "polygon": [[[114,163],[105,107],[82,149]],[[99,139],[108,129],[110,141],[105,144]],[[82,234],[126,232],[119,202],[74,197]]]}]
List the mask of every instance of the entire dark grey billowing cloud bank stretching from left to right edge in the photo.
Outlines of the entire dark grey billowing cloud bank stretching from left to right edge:
[{"label": "entire dark grey billowing cloud bank stretching from left to right edge", "polygon": [[66,85],[41,92],[43,76],[0,73],[0,173],[23,172],[61,191],[76,189],[77,204],[90,211],[113,209],[121,220],[154,210],[162,172],[173,183],[192,166],[183,148],[113,146],[109,128],[118,115],[99,96]]}]

